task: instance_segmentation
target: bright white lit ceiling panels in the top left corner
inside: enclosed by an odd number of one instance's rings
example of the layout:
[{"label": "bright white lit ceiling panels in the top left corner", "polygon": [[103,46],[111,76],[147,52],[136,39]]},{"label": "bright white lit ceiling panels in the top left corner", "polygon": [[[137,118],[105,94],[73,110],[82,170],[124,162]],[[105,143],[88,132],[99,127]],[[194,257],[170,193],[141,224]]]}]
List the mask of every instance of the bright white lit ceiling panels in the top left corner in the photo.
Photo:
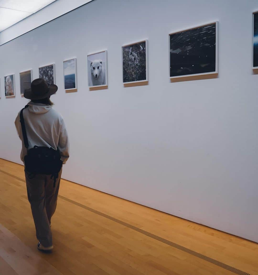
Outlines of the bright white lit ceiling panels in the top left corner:
[{"label": "bright white lit ceiling panels in the top left corner", "polygon": [[56,0],[0,0],[0,32]]}]

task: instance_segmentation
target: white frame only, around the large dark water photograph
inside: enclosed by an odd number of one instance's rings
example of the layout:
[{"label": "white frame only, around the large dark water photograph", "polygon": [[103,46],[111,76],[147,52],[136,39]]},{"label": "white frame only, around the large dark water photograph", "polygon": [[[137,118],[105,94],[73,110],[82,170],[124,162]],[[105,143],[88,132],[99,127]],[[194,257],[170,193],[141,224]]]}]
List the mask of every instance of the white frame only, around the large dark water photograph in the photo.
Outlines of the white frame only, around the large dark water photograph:
[{"label": "white frame only, around the large dark water photograph", "polygon": [[[171,76],[171,49],[170,49],[170,36],[173,34],[178,34],[181,32],[185,32],[185,31],[190,31],[190,30],[194,30],[200,27],[206,27],[209,25],[215,24],[215,70],[212,72],[205,72],[205,73],[193,73],[193,74],[186,74],[186,75],[176,75],[176,76]],[[183,29],[180,31],[175,31],[175,32],[171,32],[168,35],[168,42],[169,42],[169,78],[173,79],[173,78],[182,78],[182,77],[190,77],[190,76],[201,76],[201,75],[214,75],[214,74],[218,74],[219,73],[219,21],[213,21],[213,22],[209,22],[206,24],[202,24],[199,26],[195,26],[195,27],[191,27],[188,29]]]}]

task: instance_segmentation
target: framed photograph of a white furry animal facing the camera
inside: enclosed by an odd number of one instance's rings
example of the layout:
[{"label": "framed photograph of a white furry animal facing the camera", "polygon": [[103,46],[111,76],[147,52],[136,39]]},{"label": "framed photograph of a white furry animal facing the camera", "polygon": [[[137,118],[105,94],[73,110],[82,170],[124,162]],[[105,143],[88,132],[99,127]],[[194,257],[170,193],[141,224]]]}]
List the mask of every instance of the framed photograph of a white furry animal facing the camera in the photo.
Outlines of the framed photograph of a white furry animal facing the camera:
[{"label": "framed photograph of a white furry animal facing the camera", "polygon": [[108,86],[108,51],[88,54],[87,63],[89,87]]}]

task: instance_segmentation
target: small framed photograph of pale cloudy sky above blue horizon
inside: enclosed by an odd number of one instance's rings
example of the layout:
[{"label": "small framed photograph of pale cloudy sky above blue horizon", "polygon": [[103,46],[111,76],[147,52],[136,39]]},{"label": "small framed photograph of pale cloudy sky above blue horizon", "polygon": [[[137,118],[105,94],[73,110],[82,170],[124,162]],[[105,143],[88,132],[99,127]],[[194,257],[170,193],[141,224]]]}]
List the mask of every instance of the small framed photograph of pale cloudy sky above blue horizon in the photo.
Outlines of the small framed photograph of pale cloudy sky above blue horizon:
[{"label": "small framed photograph of pale cloudy sky above blue horizon", "polygon": [[64,89],[77,89],[77,65],[76,58],[65,60],[64,62]]}]

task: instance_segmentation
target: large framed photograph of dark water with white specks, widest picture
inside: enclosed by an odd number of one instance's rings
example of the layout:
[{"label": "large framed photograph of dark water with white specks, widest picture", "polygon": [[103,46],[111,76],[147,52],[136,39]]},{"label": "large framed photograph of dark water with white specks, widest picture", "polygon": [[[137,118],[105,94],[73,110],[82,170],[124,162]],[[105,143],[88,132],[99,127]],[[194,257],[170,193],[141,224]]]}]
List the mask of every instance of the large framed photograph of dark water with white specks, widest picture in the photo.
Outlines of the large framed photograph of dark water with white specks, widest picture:
[{"label": "large framed photograph of dark water with white specks, widest picture", "polygon": [[218,24],[169,34],[169,78],[218,73]]}]

